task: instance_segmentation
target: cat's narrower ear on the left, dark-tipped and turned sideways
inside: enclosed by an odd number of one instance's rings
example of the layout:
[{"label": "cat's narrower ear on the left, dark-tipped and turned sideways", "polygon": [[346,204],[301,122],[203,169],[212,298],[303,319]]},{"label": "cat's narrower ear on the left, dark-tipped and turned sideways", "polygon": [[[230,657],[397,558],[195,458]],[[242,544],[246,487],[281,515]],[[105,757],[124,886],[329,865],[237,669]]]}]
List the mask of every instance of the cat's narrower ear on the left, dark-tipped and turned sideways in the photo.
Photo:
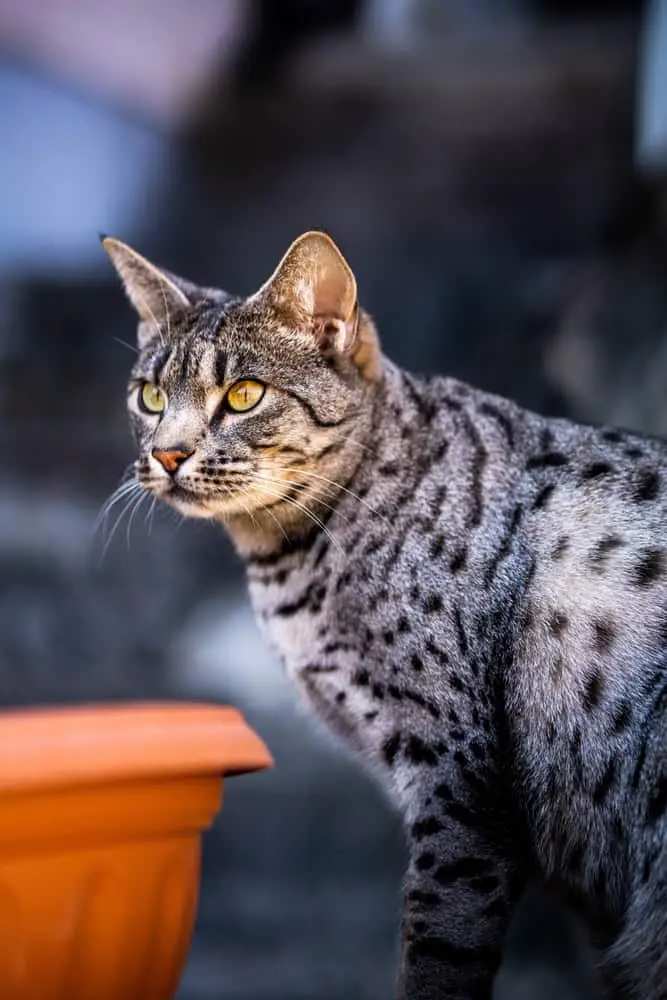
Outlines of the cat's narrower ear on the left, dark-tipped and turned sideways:
[{"label": "cat's narrower ear on the left, dark-tipped and turned sideways", "polygon": [[144,347],[155,337],[167,334],[171,317],[191,305],[186,294],[187,285],[151,264],[121,240],[100,236],[100,242],[139,314],[139,346]]}]

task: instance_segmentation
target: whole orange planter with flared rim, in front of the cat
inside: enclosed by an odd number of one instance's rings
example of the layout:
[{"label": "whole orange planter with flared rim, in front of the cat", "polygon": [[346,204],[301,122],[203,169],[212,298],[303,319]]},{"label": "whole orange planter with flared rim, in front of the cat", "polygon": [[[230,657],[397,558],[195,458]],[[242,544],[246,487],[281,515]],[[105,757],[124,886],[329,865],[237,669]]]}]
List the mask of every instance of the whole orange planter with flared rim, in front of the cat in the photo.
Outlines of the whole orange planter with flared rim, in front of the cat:
[{"label": "whole orange planter with flared rim, in front of the cat", "polygon": [[222,777],[270,764],[228,708],[0,714],[2,1000],[171,1000]]}]

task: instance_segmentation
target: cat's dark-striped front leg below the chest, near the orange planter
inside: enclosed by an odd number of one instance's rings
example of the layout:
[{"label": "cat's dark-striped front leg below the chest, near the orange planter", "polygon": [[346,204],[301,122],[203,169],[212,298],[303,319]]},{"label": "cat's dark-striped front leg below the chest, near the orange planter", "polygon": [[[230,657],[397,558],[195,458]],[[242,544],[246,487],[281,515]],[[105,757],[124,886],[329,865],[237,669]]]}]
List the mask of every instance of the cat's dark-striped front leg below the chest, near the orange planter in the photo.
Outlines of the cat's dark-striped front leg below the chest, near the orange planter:
[{"label": "cat's dark-striped front leg below the chest, near the orange planter", "polygon": [[524,884],[504,850],[426,810],[411,827],[400,1000],[490,1000]]}]

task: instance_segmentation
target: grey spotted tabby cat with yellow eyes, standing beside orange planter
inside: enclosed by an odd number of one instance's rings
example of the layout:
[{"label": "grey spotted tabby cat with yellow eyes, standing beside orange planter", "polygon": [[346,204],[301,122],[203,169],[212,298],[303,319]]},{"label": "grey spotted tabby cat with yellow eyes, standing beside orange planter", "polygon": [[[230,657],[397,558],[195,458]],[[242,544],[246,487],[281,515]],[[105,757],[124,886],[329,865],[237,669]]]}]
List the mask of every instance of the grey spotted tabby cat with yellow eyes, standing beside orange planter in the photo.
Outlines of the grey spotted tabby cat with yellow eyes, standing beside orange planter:
[{"label": "grey spotted tabby cat with yellow eyes, standing beside orange planter", "polygon": [[248,298],[103,244],[138,482],[224,526],[306,702],[400,809],[398,995],[487,998],[528,882],[667,997],[667,447],[388,359],[310,232]]}]

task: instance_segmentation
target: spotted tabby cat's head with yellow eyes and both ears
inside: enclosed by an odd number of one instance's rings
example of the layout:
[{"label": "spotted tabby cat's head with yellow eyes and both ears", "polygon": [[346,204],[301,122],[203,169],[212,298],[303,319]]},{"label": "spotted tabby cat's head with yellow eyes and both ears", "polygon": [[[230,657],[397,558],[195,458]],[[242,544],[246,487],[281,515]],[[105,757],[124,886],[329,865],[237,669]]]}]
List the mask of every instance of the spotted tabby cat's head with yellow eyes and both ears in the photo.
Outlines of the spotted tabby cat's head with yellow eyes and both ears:
[{"label": "spotted tabby cat's head with yellow eyes and both ears", "polygon": [[103,245],[139,314],[128,408],[141,485],[191,517],[285,531],[362,457],[382,362],[333,241],[305,233],[236,298]]}]

